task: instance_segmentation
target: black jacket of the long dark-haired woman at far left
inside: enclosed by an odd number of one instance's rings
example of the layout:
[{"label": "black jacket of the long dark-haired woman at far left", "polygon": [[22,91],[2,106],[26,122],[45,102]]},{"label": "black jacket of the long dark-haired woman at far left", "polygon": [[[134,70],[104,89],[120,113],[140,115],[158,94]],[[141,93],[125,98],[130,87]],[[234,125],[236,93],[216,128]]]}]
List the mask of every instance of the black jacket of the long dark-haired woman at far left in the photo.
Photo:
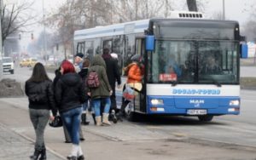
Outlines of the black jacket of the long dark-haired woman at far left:
[{"label": "black jacket of the long dark-haired woman at far left", "polygon": [[52,110],[53,114],[56,114],[57,110],[50,80],[38,83],[26,81],[25,93],[28,96],[29,108]]}]

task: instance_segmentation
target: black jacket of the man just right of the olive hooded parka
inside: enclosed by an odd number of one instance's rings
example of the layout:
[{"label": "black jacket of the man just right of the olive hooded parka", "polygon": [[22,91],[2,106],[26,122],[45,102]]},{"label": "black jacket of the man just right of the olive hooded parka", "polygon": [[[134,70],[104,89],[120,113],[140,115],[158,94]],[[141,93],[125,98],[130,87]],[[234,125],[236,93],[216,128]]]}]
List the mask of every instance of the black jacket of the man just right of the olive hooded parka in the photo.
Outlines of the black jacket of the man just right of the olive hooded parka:
[{"label": "black jacket of the man just right of the olive hooded parka", "polygon": [[102,58],[105,60],[106,63],[108,82],[112,88],[115,88],[115,82],[121,84],[117,60],[114,60],[110,54],[102,54]]}]

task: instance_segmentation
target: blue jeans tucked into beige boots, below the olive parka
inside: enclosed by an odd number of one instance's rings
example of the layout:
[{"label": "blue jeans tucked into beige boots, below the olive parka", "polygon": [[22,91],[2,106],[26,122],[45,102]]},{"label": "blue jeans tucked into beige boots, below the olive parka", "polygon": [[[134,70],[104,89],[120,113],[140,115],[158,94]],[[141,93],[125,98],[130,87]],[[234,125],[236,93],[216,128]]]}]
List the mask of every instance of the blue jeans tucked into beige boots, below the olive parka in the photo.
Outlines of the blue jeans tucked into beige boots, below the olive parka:
[{"label": "blue jeans tucked into beige boots, below the olive parka", "polygon": [[104,113],[108,113],[108,111],[110,110],[110,106],[111,106],[111,100],[110,98],[101,98],[101,99],[95,99],[95,100],[91,100],[92,106],[94,107],[94,111],[95,111],[95,116],[101,116],[101,105],[102,103],[105,105],[103,112]]}]

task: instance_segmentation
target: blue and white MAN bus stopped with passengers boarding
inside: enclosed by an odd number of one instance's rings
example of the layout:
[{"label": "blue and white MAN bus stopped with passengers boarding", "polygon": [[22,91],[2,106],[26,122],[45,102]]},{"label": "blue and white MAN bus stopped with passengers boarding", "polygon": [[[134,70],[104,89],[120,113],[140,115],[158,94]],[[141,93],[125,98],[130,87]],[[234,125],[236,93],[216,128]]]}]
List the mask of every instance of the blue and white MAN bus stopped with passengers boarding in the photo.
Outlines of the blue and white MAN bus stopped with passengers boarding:
[{"label": "blue and white MAN bus stopped with passengers boarding", "polygon": [[[125,108],[136,113],[181,115],[211,121],[240,113],[240,33],[232,20],[204,20],[200,13],[175,19],[137,20],[74,32],[76,53],[92,58],[108,47],[127,66],[143,56],[143,89]],[[123,83],[125,83],[125,80]],[[117,91],[121,96],[122,90]]]}]

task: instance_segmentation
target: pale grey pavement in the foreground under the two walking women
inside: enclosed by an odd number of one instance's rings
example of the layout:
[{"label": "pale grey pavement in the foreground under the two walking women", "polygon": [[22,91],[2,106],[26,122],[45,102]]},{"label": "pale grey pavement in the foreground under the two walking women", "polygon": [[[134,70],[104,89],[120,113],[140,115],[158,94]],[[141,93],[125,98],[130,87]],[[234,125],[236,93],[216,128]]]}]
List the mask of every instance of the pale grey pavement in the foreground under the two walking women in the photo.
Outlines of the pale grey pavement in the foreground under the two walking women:
[{"label": "pale grey pavement in the foreground under the two walking women", "polygon": [[[27,99],[0,99],[0,159],[28,159],[35,140]],[[91,119],[90,119],[91,120]],[[157,127],[157,126],[156,126]],[[111,127],[83,126],[85,159],[255,159],[255,148],[193,140],[189,135],[155,133],[152,126],[122,122]],[[64,143],[62,128],[45,129],[48,159],[67,159],[71,144]]]}]

